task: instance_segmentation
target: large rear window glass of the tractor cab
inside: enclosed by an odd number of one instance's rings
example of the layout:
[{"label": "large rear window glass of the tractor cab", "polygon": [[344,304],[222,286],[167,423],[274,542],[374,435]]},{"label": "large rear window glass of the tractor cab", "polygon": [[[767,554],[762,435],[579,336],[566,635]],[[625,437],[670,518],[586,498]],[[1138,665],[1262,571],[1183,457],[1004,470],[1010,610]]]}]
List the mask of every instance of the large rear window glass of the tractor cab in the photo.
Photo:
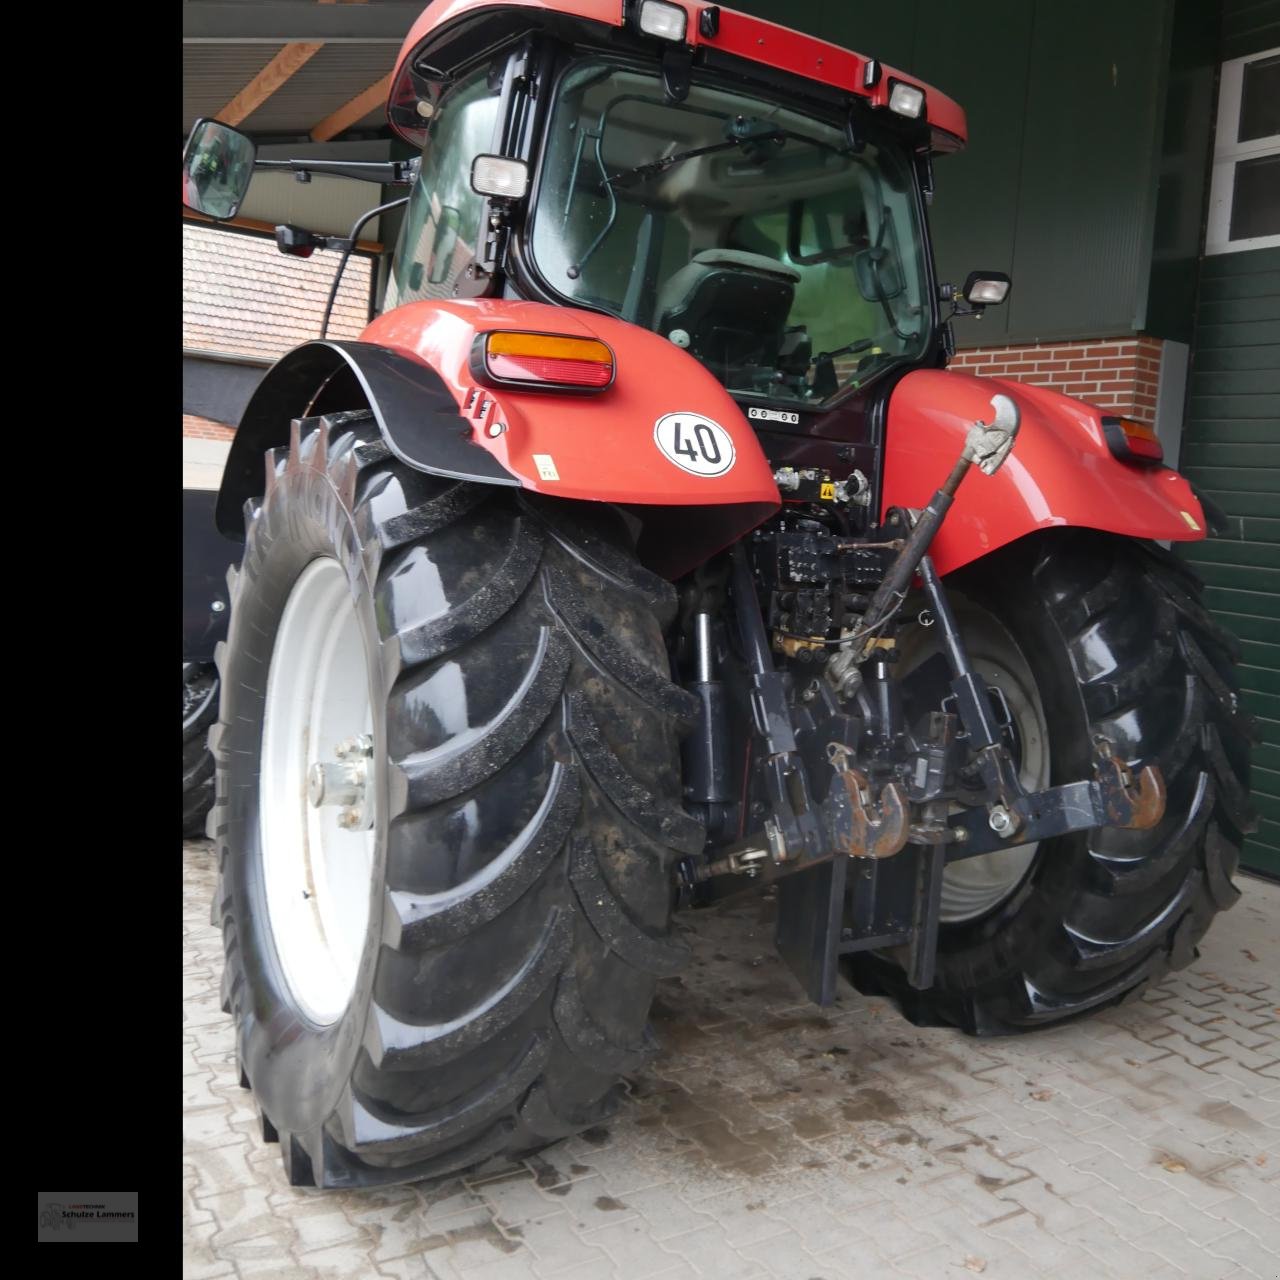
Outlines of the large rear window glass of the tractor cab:
[{"label": "large rear window glass of the tractor cab", "polygon": [[669,338],[728,390],[820,404],[929,340],[905,154],[714,82],[562,79],[531,252],[567,300]]}]

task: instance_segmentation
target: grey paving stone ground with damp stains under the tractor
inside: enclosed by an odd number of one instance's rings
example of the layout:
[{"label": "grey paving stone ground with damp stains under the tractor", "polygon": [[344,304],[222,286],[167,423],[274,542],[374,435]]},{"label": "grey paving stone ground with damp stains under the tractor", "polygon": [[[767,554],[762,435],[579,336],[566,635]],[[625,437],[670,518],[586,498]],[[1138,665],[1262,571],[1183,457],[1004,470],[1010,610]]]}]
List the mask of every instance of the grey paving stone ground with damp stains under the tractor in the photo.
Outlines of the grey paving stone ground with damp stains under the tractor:
[{"label": "grey paving stone ground with damp stains under the tractor", "polygon": [[219,1009],[214,864],[183,846],[183,1275],[398,1280],[1280,1277],[1280,886],[1202,956],[1011,1039],[806,1004],[768,904],[677,918],[664,1052],[607,1126],[518,1165],[291,1188]]}]

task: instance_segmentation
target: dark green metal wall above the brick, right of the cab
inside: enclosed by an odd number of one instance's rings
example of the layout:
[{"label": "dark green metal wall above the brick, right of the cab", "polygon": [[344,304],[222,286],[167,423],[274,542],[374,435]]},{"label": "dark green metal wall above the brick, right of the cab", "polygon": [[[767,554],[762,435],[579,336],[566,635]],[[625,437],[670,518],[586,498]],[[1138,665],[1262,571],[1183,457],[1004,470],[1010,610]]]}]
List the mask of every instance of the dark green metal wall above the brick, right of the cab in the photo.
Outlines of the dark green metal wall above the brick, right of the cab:
[{"label": "dark green metal wall above the brick, right of the cab", "polygon": [[1006,270],[1014,291],[980,325],[957,326],[961,346],[1143,328],[1189,339],[1219,42],[1215,5],[740,6],[893,63],[965,108],[969,147],[937,165],[931,220],[940,275],[959,280],[974,268]]}]

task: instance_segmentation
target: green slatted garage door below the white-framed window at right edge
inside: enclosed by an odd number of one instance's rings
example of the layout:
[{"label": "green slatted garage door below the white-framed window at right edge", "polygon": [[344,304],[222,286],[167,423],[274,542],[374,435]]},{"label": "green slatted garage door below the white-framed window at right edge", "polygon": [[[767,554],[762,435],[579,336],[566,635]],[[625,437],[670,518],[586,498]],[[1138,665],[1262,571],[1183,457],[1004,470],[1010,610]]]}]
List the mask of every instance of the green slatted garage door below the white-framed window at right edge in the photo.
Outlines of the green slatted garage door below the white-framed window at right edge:
[{"label": "green slatted garage door below the white-framed window at right edge", "polygon": [[1226,536],[1184,549],[1240,640],[1262,730],[1244,865],[1280,876],[1280,250],[1203,260],[1180,470],[1231,518]]}]

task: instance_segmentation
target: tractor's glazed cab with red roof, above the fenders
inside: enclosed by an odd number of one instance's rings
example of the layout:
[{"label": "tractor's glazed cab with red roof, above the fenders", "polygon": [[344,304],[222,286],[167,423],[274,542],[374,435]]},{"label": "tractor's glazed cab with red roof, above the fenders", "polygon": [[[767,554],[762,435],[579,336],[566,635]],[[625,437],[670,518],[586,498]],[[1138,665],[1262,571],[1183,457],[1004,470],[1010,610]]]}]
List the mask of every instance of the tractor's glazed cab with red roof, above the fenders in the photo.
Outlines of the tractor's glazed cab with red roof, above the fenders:
[{"label": "tractor's glazed cab with red roof, above the fenders", "polygon": [[[433,22],[439,8],[392,97],[422,156],[388,308],[470,292],[603,312],[735,398],[791,408],[936,355],[922,180],[931,148],[957,140],[931,127],[933,91],[887,88],[874,61],[714,6],[696,31],[660,0],[625,18],[465,4]],[[735,24],[762,33],[764,61],[717,52]],[[479,38],[504,27],[497,51]],[[856,64],[849,83],[788,73],[832,54]]]}]

